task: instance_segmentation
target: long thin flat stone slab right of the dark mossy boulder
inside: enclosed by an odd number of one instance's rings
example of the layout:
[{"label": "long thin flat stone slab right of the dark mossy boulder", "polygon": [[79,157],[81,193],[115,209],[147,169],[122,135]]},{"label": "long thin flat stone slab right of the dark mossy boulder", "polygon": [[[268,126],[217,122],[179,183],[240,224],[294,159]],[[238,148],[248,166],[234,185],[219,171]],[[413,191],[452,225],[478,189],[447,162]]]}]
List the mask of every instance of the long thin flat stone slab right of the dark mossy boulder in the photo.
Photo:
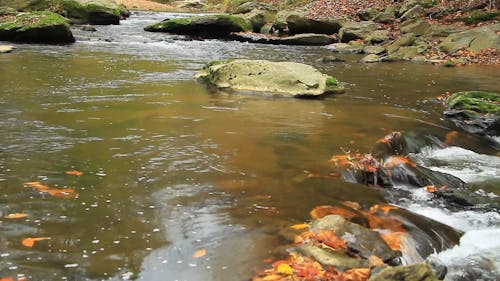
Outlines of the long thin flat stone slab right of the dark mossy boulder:
[{"label": "long thin flat stone slab right of the dark mossy boulder", "polygon": [[251,42],[272,45],[323,46],[337,42],[337,39],[326,34],[302,33],[293,36],[278,37],[257,33],[231,33],[231,39],[240,42]]}]

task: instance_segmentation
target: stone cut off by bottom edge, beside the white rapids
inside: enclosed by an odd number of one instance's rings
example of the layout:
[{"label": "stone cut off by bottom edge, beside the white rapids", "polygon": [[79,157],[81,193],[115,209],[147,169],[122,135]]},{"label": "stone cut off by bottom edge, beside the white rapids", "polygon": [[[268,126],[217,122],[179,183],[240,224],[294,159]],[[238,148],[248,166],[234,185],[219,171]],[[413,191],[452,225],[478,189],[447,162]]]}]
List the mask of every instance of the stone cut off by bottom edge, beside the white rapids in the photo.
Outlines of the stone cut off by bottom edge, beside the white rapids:
[{"label": "stone cut off by bottom edge, beside the white rapids", "polygon": [[368,281],[438,281],[426,263],[410,266],[386,267],[370,276]]}]

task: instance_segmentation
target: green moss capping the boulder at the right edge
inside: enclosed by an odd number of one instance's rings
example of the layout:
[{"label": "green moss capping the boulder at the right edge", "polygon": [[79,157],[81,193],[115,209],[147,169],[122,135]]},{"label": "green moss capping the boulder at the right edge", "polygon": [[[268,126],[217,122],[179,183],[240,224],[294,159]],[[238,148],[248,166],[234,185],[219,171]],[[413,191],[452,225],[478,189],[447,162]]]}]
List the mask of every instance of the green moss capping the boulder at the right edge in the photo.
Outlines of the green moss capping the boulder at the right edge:
[{"label": "green moss capping the boulder at the right edge", "polygon": [[483,91],[454,93],[447,101],[451,110],[480,114],[500,114],[500,94]]}]

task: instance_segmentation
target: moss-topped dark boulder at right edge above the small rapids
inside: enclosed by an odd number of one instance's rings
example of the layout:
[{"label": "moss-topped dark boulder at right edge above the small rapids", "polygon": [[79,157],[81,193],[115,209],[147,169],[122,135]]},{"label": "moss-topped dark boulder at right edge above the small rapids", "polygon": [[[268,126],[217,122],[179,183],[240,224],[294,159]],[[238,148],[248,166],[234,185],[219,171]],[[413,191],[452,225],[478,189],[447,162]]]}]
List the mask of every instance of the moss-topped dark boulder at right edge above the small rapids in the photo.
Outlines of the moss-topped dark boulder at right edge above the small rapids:
[{"label": "moss-topped dark boulder at right edge above the small rapids", "polygon": [[470,133],[500,135],[500,93],[454,93],[446,102],[444,114]]}]

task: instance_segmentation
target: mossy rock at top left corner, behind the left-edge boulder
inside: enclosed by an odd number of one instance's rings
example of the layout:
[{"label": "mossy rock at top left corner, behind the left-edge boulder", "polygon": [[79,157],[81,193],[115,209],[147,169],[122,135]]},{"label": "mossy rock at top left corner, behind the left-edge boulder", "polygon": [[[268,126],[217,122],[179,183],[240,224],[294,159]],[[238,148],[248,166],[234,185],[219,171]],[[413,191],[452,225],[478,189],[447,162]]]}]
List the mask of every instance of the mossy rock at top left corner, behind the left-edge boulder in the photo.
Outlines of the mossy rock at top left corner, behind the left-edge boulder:
[{"label": "mossy rock at top left corner, behind the left-edge boulder", "polygon": [[113,0],[19,0],[15,1],[13,8],[19,11],[47,10],[78,24],[119,24],[121,18],[129,15],[123,5]]}]

